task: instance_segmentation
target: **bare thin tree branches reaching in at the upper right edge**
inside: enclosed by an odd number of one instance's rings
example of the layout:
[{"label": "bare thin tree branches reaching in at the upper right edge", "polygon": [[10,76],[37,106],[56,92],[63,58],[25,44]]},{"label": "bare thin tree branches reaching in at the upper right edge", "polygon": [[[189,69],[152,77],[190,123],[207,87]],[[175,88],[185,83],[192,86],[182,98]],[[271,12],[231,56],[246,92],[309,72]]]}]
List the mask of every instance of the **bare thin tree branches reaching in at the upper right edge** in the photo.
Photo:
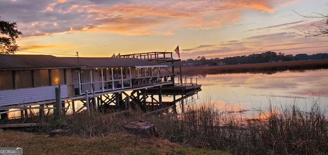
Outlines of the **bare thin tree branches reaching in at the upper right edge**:
[{"label": "bare thin tree branches reaching in at the upper right edge", "polygon": [[[293,10],[294,11],[294,10]],[[297,13],[296,11],[294,11],[295,13]],[[320,19],[318,21],[318,24],[312,24],[312,26],[315,27],[314,30],[299,30],[300,32],[302,32],[302,34],[299,34],[300,36],[303,37],[324,37],[324,36],[328,36],[328,14],[324,15],[324,14],[320,14],[320,13],[315,13],[313,12],[315,15],[302,15],[297,13],[298,15],[302,16],[303,18],[317,18]]]}]

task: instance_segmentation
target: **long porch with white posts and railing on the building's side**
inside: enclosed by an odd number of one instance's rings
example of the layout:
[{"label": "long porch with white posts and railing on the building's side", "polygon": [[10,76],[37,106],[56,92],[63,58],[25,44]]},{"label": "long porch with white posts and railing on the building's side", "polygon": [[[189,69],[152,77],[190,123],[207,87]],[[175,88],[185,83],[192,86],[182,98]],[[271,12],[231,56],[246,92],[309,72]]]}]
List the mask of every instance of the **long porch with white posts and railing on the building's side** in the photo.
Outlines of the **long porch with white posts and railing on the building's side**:
[{"label": "long porch with white posts and railing on the building's side", "polygon": [[160,75],[160,67],[94,68],[76,70],[74,94],[109,92],[171,82],[174,75]]}]

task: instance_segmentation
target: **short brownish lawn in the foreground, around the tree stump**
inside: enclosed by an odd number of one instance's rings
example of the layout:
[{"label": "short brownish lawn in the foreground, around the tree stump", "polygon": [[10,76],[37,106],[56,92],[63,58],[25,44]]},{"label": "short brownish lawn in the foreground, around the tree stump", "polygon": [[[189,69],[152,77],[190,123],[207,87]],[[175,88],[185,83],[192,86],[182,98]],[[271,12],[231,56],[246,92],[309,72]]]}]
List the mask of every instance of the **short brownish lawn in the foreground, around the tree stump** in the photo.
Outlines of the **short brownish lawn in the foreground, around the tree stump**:
[{"label": "short brownish lawn in the foreground, around the tree stump", "polygon": [[24,154],[228,154],[183,147],[161,138],[148,138],[126,131],[92,139],[0,131],[0,147],[23,147]]}]

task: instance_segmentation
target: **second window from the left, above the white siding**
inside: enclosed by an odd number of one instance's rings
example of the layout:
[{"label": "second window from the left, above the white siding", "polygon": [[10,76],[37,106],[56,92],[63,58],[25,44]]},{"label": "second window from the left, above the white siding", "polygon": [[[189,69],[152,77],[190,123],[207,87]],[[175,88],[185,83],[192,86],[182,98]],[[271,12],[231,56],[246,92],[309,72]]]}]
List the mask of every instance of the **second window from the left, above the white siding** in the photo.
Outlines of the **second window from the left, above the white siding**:
[{"label": "second window from the left, above the white siding", "polygon": [[33,87],[32,71],[15,71],[16,88]]}]

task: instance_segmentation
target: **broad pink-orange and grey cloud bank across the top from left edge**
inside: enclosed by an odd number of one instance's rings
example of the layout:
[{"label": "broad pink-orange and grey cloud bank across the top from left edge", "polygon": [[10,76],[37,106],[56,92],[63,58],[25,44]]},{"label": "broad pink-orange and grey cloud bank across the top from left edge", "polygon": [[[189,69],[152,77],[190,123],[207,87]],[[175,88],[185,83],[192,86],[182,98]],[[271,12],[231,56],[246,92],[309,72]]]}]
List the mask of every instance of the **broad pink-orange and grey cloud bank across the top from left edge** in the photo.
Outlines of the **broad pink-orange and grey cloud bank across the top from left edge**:
[{"label": "broad pink-orange and grey cloud bank across the top from left edge", "polygon": [[[218,29],[235,24],[243,10],[272,12],[272,1],[33,1],[4,2],[2,16],[13,16],[24,36],[76,31],[125,35],[171,35],[180,29]],[[6,7],[11,6],[11,7]],[[28,14],[26,13],[28,11]],[[43,13],[40,13],[43,12]],[[32,23],[38,23],[31,27]],[[51,26],[51,24],[56,25]],[[88,28],[88,29],[86,29]],[[92,30],[97,28],[95,30]]]}]

